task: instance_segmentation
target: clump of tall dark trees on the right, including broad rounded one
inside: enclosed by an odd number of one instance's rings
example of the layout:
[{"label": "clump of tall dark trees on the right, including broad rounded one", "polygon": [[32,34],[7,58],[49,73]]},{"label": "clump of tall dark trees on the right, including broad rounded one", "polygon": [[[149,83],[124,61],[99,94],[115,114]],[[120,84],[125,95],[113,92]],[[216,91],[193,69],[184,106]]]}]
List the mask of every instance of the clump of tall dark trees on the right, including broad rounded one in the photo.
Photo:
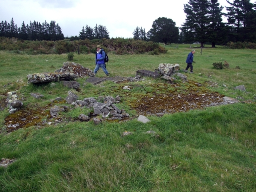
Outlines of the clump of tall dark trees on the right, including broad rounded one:
[{"label": "clump of tall dark trees on the right, including broad rounded one", "polygon": [[[223,13],[224,7],[218,0],[189,0],[184,5],[187,18],[181,32],[172,19],[162,17],[153,22],[147,33],[137,27],[133,38],[165,44],[199,42],[201,47],[205,43],[211,43],[212,47],[227,42],[256,43],[256,3],[250,3],[250,0],[227,2],[227,13]],[[227,23],[222,21],[222,16],[227,18]]]}]

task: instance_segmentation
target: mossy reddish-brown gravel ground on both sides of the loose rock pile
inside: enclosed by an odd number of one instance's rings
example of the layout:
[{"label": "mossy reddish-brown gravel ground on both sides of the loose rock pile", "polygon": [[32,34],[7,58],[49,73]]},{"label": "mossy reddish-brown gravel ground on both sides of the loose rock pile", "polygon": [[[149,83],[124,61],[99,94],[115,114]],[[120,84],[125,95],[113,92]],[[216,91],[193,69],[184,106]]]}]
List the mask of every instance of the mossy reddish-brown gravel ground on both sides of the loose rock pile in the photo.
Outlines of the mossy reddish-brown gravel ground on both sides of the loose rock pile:
[{"label": "mossy reddish-brown gravel ground on both sides of the loose rock pile", "polygon": [[[110,80],[108,78],[107,80]],[[129,78],[112,78],[116,83],[122,83],[120,87],[129,84]],[[124,84],[125,83],[125,84]],[[212,92],[206,87],[216,86],[216,83],[206,82],[205,85],[196,82],[189,82],[186,86],[181,84],[155,83],[150,85],[132,84],[129,85],[131,91],[125,91],[123,101],[137,114],[163,116],[177,112],[186,112],[194,109],[203,109],[209,106],[225,105],[238,102],[238,100],[227,98],[217,92]],[[122,89],[122,88],[121,88]],[[136,91],[138,93],[136,94]],[[133,91],[133,92],[132,92]],[[133,96],[133,97],[131,97]],[[131,99],[136,98],[136,99]],[[63,102],[63,101],[56,101]],[[51,117],[50,108],[52,103],[45,107],[23,107],[14,114],[10,114],[5,119],[7,132],[13,132],[20,128],[44,125],[57,125],[58,123],[74,121],[67,119],[63,115]],[[133,117],[134,118],[134,117]]]}]

